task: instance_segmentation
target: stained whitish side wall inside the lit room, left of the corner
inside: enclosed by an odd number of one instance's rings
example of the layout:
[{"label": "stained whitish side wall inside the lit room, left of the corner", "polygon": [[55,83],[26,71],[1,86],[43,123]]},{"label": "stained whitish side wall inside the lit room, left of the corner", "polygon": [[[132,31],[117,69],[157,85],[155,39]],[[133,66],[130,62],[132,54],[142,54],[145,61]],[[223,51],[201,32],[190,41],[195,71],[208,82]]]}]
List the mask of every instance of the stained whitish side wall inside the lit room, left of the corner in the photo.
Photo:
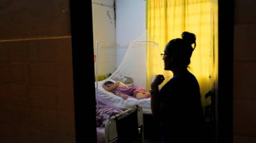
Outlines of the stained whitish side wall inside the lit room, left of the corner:
[{"label": "stained whitish side wall inside the lit room, left of the corner", "polygon": [[[96,3],[106,3],[114,0],[93,0]],[[115,31],[115,11],[114,8],[92,4],[93,17],[93,40],[106,42],[98,45],[98,74],[113,73],[116,69],[116,31]],[[94,53],[96,53],[96,43],[94,42]],[[95,63],[96,64],[96,63]],[[96,67],[96,65],[95,65]],[[96,70],[96,68],[95,68]],[[96,73],[96,72],[95,72]]]}]

